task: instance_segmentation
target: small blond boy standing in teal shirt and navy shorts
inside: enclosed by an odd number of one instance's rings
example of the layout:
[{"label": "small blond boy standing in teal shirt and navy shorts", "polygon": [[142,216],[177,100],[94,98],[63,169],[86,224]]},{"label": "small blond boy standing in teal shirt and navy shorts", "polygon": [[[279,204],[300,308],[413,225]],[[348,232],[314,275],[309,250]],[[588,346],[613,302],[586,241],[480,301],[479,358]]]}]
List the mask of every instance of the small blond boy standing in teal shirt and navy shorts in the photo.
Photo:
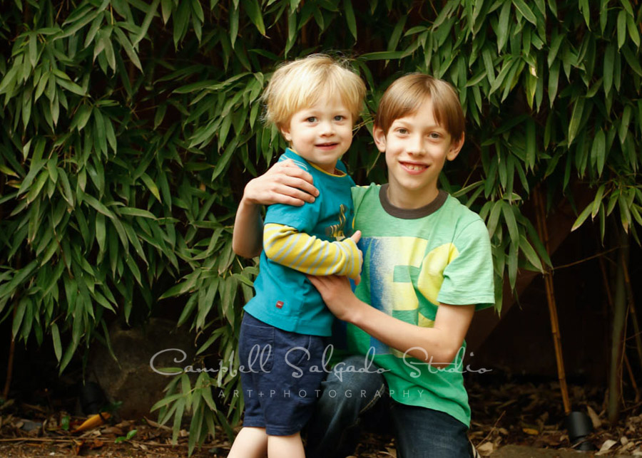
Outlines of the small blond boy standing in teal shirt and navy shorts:
[{"label": "small blond boy standing in teal shirt and navy shorts", "polygon": [[[354,182],[337,163],[352,143],[364,95],[357,74],[323,55],[281,66],[263,95],[268,123],[290,144],[281,160],[310,173],[323,194],[304,207],[267,209],[256,295],[245,305],[239,338],[243,430],[230,457],[305,456],[300,430],[324,377],[315,368],[323,366],[334,320],[305,275],[360,276],[359,235],[347,238]],[[237,219],[247,210],[243,200]]]}]

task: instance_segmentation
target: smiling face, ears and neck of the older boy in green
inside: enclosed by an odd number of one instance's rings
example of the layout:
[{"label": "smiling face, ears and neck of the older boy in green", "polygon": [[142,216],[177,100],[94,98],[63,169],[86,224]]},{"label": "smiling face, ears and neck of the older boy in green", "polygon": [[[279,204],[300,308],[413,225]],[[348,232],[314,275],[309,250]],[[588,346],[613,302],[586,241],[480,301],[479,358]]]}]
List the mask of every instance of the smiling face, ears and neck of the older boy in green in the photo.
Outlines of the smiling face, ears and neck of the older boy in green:
[{"label": "smiling face, ears and neck of the older boy in green", "polygon": [[395,119],[388,132],[374,126],[374,142],[385,152],[388,167],[388,199],[395,207],[414,209],[432,202],[446,160],[454,160],[464,137],[453,140],[434,118],[427,98],[415,113]]}]

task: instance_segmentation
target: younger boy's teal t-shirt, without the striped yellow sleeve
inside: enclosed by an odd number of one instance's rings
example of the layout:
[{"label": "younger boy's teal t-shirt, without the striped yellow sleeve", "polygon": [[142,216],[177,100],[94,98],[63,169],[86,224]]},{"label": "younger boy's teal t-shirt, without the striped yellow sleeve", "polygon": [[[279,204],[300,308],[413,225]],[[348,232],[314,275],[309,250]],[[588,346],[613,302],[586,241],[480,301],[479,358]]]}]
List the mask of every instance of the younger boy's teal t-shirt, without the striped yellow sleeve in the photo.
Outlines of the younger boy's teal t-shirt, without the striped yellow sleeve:
[{"label": "younger boy's teal t-shirt, without the striped yellow sleeve", "polygon": [[[302,207],[273,204],[267,207],[265,224],[276,223],[305,232],[317,239],[335,241],[352,235],[354,211],[349,175],[332,175],[307,162],[289,148],[280,160],[292,159],[314,179],[320,195]],[[344,171],[345,166],[337,164]],[[300,334],[332,334],[334,316],[305,274],[282,266],[261,252],[260,271],[254,282],[256,294],[245,311],[264,323]]]}]

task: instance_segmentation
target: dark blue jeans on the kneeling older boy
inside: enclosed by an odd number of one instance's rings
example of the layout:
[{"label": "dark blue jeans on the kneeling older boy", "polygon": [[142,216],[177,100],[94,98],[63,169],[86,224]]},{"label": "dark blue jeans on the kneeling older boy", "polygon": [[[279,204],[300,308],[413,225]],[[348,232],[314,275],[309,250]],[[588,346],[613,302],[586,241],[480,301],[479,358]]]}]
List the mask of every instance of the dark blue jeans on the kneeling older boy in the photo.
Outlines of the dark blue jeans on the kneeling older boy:
[{"label": "dark blue jeans on the kneeling older boy", "polygon": [[[362,368],[363,356],[350,356],[345,366]],[[468,427],[450,415],[391,400],[382,374],[332,373],[322,382],[322,393],[307,425],[308,458],[345,458],[356,445],[363,413],[387,407],[397,439],[399,458],[469,458]],[[382,402],[387,406],[380,405]]]}]

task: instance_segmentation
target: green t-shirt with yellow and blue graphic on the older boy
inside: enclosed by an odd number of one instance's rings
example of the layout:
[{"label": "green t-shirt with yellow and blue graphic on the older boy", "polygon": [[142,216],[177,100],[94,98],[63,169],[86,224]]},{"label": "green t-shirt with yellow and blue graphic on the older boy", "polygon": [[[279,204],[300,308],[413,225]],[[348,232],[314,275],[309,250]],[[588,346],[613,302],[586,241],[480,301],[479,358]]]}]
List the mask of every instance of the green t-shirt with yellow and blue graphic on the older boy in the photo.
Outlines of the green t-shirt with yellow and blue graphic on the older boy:
[{"label": "green t-shirt with yellow and blue graphic on the older boy", "polygon": [[[494,303],[493,264],[488,231],[477,213],[446,192],[420,209],[399,209],[387,199],[387,185],[353,187],[355,229],[364,263],[355,293],[360,300],[407,323],[434,326],[439,303]],[[462,370],[465,342],[447,368],[434,368],[389,348],[353,325],[343,340],[350,353],[374,350],[397,402],[446,412],[470,423]],[[434,361],[434,363],[441,363]]]}]

